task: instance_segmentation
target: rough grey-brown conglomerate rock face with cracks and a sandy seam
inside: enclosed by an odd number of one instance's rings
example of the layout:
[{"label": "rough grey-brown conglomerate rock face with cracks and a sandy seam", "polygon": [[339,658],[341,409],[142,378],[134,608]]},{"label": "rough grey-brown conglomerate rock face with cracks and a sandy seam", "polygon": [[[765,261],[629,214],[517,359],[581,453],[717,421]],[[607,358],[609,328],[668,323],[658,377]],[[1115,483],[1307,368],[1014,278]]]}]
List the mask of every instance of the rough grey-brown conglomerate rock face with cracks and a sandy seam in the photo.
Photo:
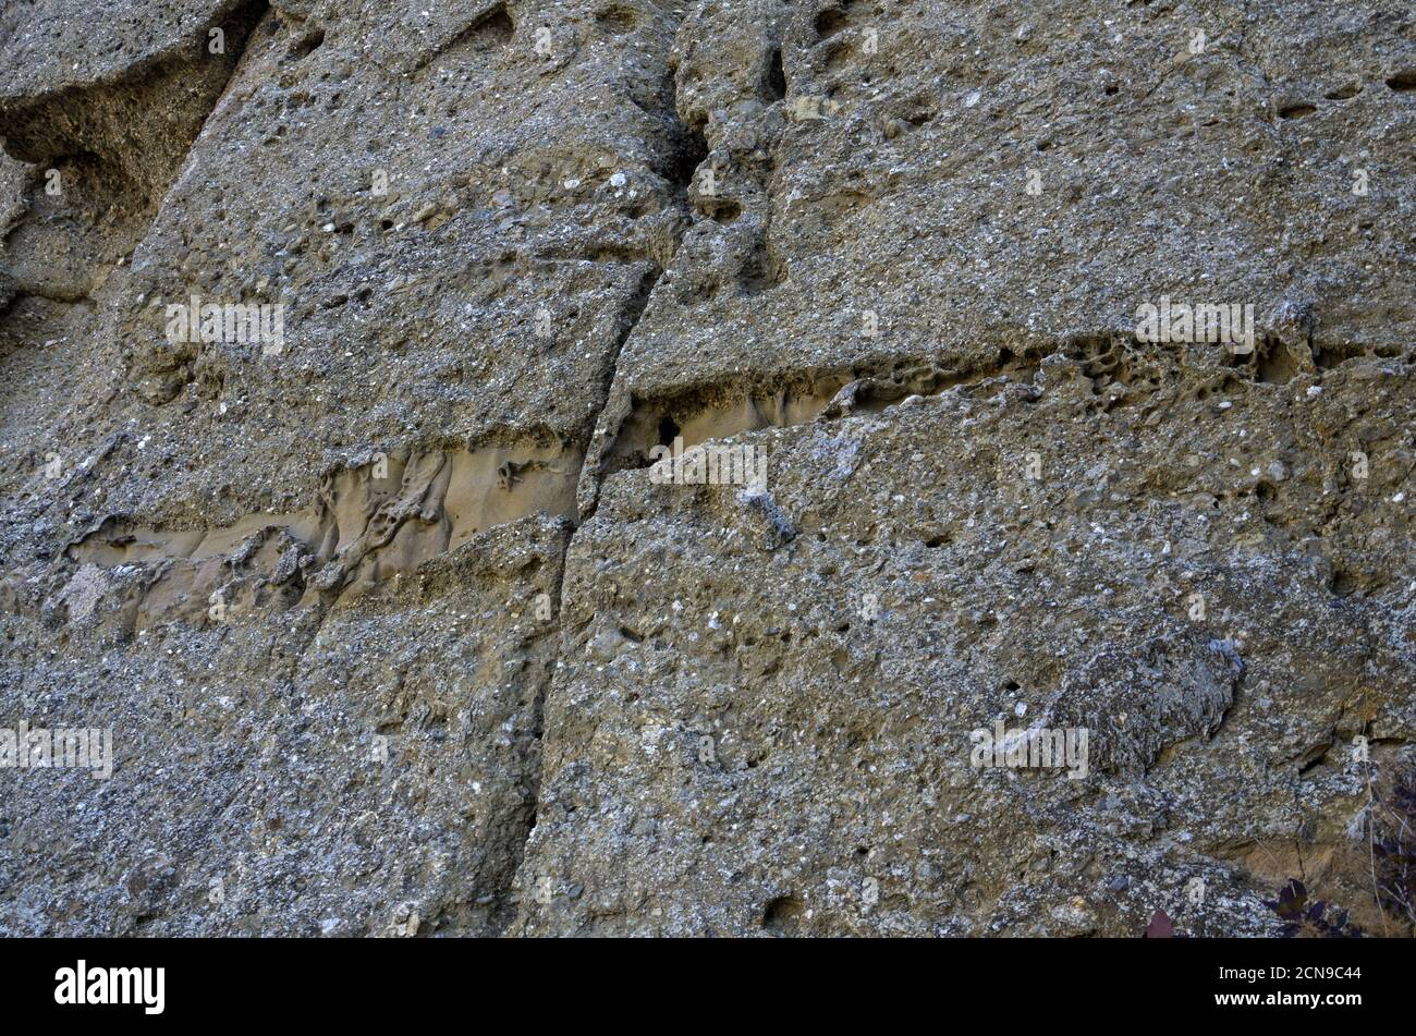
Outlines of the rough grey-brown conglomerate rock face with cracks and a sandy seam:
[{"label": "rough grey-brown conglomerate rock face with cracks and a sandy seam", "polygon": [[1402,930],[1409,10],[110,7],[0,11],[0,934]]}]

